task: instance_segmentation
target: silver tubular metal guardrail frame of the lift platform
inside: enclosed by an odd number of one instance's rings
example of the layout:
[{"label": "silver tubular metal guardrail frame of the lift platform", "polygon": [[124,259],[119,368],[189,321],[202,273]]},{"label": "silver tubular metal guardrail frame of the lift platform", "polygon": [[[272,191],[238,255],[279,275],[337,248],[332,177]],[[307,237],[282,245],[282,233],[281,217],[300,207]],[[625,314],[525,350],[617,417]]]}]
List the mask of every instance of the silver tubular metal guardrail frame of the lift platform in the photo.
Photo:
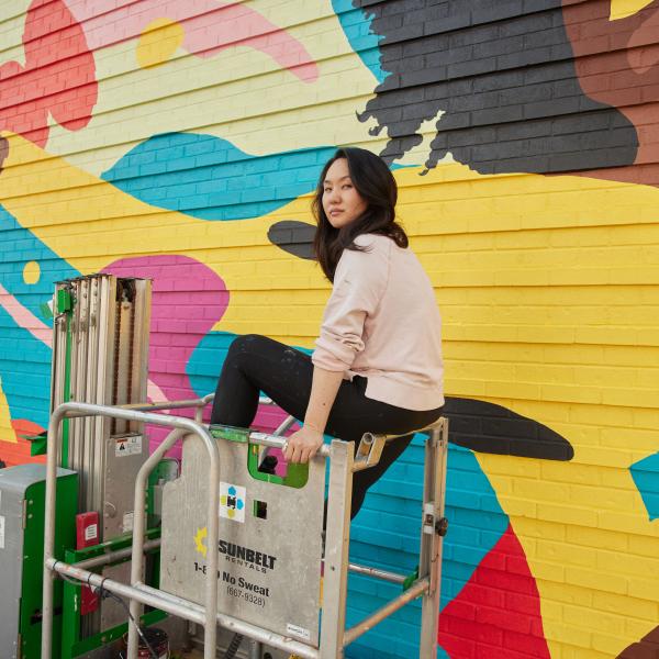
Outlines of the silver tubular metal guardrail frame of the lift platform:
[{"label": "silver tubular metal guardrail frame of the lift platform", "polygon": [[[425,445],[425,477],[424,502],[421,534],[421,554],[418,579],[401,595],[368,616],[354,627],[346,629],[345,613],[347,597],[348,571],[368,574],[393,583],[402,583],[405,577],[386,570],[349,563],[349,528],[350,501],[353,491],[353,473],[378,462],[382,448],[388,440],[398,435],[373,435],[367,433],[355,450],[350,443],[335,439],[331,445],[323,445],[315,459],[330,459],[330,494],[327,528],[325,541],[325,572],[323,585],[323,621],[321,627],[320,647],[315,648],[284,637],[268,629],[257,627],[217,612],[217,588],[214,579],[206,579],[205,605],[178,597],[165,591],[154,589],[143,583],[143,556],[145,545],[145,492],[150,471],[160,458],[183,435],[197,435],[209,454],[209,485],[208,502],[208,543],[210,547],[217,546],[219,539],[219,481],[220,465],[216,440],[202,424],[203,407],[213,400],[213,394],[202,399],[176,401],[166,403],[129,404],[123,406],[105,406],[88,403],[68,402],[55,409],[48,424],[48,447],[46,467],[46,502],[44,530],[44,581],[43,581],[43,630],[42,659],[52,658],[53,644],[53,584],[57,574],[68,577],[127,597],[130,611],[135,621],[139,619],[142,605],[147,604],[166,613],[182,617],[187,621],[203,625],[204,659],[215,658],[216,625],[241,633],[258,644],[287,650],[303,659],[340,659],[344,648],[359,636],[371,629],[382,619],[398,611],[409,602],[422,597],[422,628],[420,657],[434,656],[436,648],[438,614],[439,614],[439,582],[442,569],[442,536],[446,533],[444,520],[444,500],[446,482],[446,457],[448,443],[448,422],[442,417],[435,423],[416,432],[426,432],[429,437]],[[261,399],[261,403],[271,403]],[[172,415],[154,414],[155,411],[194,407],[194,421]],[[103,578],[85,568],[91,568],[90,561],[72,566],[54,557],[55,506],[56,506],[56,468],[57,455],[60,448],[60,425],[65,418],[107,416],[124,421],[136,421],[171,427],[172,431],[152,454],[139,469],[135,482],[135,520],[133,528],[131,585]],[[249,440],[253,444],[283,448],[284,438],[280,436],[292,424],[294,418],[287,418],[275,434],[253,432]],[[116,557],[114,554],[104,557],[109,562]],[[98,561],[100,565],[100,561]],[[94,563],[96,565],[96,563]],[[209,574],[217,573],[217,552],[209,552]],[[129,624],[129,659],[137,657],[137,628]],[[255,652],[253,652],[255,654]]]}]

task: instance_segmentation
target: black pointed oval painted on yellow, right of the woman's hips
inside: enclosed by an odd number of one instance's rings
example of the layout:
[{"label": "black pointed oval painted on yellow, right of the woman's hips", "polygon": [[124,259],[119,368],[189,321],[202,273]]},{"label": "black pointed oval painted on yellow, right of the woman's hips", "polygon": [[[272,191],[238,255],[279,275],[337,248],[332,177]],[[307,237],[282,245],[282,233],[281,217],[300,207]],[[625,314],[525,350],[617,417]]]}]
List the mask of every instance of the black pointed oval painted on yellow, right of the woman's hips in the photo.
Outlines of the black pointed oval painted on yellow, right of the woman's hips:
[{"label": "black pointed oval painted on yellow, right of the woman's hips", "polygon": [[562,461],[574,457],[565,437],[494,403],[447,396],[444,416],[449,442],[477,453]]}]

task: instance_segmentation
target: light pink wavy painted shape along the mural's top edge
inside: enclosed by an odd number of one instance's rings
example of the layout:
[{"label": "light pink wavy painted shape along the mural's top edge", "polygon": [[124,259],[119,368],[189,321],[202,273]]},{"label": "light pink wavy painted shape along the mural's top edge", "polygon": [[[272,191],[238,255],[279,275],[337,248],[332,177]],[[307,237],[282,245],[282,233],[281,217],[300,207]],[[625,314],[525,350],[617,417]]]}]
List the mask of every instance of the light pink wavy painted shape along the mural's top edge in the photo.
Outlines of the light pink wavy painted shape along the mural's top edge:
[{"label": "light pink wavy painted shape along the mural's top edge", "polygon": [[305,82],[317,79],[315,62],[288,31],[239,2],[216,0],[67,0],[96,51],[142,34],[156,19],[180,23],[182,47],[198,57],[214,57],[230,46],[249,46],[269,55]]}]

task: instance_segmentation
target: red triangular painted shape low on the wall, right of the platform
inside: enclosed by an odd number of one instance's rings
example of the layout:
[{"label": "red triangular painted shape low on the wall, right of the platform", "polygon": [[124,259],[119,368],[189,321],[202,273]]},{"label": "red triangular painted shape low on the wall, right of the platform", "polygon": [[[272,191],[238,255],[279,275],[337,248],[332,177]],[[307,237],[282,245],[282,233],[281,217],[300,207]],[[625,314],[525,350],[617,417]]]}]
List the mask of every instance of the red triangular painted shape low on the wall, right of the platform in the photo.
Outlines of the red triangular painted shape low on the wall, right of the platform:
[{"label": "red triangular painted shape low on the wall, right of the platform", "polygon": [[451,659],[550,659],[538,589],[510,525],[442,611],[438,641]]}]

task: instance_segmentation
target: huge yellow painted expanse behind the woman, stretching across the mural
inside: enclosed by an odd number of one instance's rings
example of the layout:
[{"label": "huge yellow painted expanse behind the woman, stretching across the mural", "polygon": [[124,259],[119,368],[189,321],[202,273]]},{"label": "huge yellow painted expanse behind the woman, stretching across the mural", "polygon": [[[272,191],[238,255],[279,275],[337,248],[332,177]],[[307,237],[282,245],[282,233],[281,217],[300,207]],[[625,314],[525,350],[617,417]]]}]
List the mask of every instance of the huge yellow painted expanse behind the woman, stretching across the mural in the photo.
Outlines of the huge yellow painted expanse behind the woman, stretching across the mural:
[{"label": "huge yellow painted expanse behind the woman, stretching across the mural", "polygon": [[[311,222],[309,196],[266,216],[208,222],[146,204],[20,136],[9,139],[3,205],[72,267],[88,273],[124,257],[189,256],[231,291],[215,330],[311,345],[330,287],[317,266],[267,237],[277,221]],[[619,595],[619,617],[638,625],[616,629],[615,656],[659,623],[638,574],[647,563],[630,550],[632,538],[641,538],[654,556],[659,526],[628,472],[651,450],[656,427],[656,376],[644,383],[645,370],[629,365],[657,362],[659,189],[480,176],[458,164],[420,177],[422,169],[394,172],[398,210],[448,321],[447,392],[502,404],[574,447],[570,462],[478,456],[537,579],[551,656],[583,636],[570,622],[574,611],[557,601],[557,584],[573,603]],[[628,311],[621,316],[616,305]],[[478,358],[479,349],[492,356]],[[614,546],[600,538],[621,537],[612,570]],[[562,544],[572,548],[567,556]],[[605,636],[613,623],[608,611],[588,610],[589,635]]]}]

